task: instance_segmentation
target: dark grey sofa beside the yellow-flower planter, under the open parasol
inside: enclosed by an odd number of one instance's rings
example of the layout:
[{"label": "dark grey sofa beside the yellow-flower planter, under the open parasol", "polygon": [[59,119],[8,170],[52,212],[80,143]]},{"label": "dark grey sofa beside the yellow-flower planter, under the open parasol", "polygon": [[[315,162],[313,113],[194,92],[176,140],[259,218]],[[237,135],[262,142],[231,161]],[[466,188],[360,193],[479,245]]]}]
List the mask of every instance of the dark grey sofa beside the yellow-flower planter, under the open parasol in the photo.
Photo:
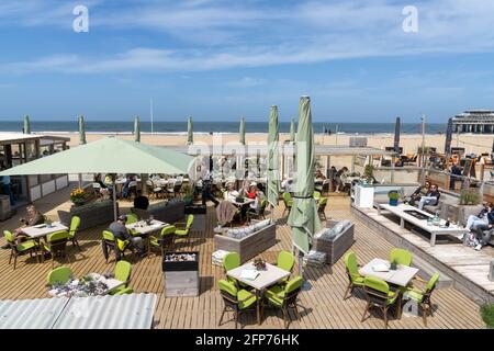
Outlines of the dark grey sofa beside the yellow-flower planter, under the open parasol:
[{"label": "dark grey sofa beside the yellow-flower planter, under the open parasol", "polygon": [[[119,213],[119,204],[116,204]],[[113,202],[111,200],[98,201],[81,206],[72,206],[70,211],[58,211],[58,218],[65,225],[70,225],[72,216],[80,217],[79,230],[92,228],[113,222]]]}]

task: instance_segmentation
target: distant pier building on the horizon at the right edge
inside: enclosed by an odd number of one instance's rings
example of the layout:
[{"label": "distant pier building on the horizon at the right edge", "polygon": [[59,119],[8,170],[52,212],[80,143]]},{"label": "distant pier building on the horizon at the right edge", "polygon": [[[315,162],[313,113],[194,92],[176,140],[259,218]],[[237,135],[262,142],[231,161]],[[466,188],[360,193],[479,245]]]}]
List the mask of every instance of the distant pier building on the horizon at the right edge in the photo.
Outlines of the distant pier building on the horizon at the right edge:
[{"label": "distant pier building on the horizon at the right edge", "polygon": [[471,110],[452,117],[454,133],[494,134],[494,111]]}]

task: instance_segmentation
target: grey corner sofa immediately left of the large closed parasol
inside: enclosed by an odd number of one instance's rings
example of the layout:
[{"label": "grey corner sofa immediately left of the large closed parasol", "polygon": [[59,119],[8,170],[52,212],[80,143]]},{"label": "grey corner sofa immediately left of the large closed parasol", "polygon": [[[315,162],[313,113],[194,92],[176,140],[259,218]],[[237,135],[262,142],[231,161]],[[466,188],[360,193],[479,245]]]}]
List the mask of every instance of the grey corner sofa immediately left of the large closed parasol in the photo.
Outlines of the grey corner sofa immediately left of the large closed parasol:
[{"label": "grey corner sofa immediately left of the large closed parasol", "polygon": [[276,224],[270,224],[267,227],[242,239],[232,238],[226,234],[216,234],[214,236],[214,250],[238,252],[240,256],[240,262],[244,263],[272,247],[277,242],[276,237]]}]

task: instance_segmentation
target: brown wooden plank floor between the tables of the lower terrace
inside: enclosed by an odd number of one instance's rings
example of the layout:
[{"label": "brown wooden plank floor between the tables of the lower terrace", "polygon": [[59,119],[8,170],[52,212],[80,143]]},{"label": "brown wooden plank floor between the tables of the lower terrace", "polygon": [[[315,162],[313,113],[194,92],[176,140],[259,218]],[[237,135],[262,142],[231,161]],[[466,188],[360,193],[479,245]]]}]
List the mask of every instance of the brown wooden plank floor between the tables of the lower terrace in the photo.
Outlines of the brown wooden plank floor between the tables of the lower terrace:
[{"label": "brown wooden plank floor between the tables of the lower terrace", "polygon": [[[67,197],[65,197],[67,199]],[[55,201],[45,206],[55,208]],[[158,294],[158,304],[155,313],[155,328],[233,328],[232,315],[226,314],[224,322],[218,326],[218,319],[223,309],[223,302],[216,288],[216,282],[223,276],[222,269],[211,263],[213,248],[213,227],[215,214],[209,211],[207,227],[204,231],[192,233],[186,240],[178,240],[177,250],[200,251],[201,294],[198,297],[166,298],[162,294],[161,258],[151,256],[137,260],[131,258],[133,274],[131,286],[135,292],[149,292]],[[282,206],[277,208],[276,217],[281,215]],[[53,212],[49,213],[50,216]],[[379,234],[368,229],[359,219],[350,214],[348,199],[332,197],[327,215],[333,218],[349,218],[356,223],[356,251],[359,262],[366,263],[375,257],[386,258],[392,246]],[[15,220],[2,223],[0,228],[13,229]],[[268,261],[276,261],[278,252],[282,249],[290,250],[290,230],[280,219],[277,230],[278,244],[262,253]],[[9,227],[5,226],[9,225]],[[105,263],[101,252],[100,236],[102,227],[80,233],[79,241],[82,252],[69,248],[69,264],[76,275],[89,272],[104,273],[112,271],[114,262]],[[0,238],[0,245],[4,239]],[[0,250],[0,299],[23,299],[48,297],[45,287],[46,274],[52,263],[36,263],[35,259],[20,258],[18,268],[12,269],[8,264],[9,251]],[[343,301],[347,285],[344,262],[339,260],[333,268],[307,268],[306,278],[311,288],[300,294],[301,320],[294,320],[290,328],[383,328],[381,315],[375,313],[364,322],[360,321],[364,308],[364,301],[360,297],[351,297]],[[435,315],[428,318],[429,328],[483,328],[479,316],[479,306],[454,288],[437,290],[433,296],[436,307]],[[281,313],[266,310],[261,326],[256,324],[254,315],[244,315],[240,319],[245,328],[283,328]],[[391,318],[390,328],[424,328],[420,317],[403,316],[400,320]]]}]

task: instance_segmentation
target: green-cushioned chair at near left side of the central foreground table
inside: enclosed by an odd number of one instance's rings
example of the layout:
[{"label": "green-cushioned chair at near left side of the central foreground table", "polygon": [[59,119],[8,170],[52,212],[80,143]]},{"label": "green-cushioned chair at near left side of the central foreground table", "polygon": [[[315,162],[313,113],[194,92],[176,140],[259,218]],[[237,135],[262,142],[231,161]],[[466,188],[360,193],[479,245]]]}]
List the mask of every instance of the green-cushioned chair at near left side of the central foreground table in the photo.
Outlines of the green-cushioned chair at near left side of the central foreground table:
[{"label": "green-cushioned chair at near left side of the central foreground table", "polygon": [[235,329],[237,329],[240,314],[249,309],[255,309],[257,297],[246,290],[238,290],[234,283],[225,280],[220,280],[218,285],[225,306],[223,307],[222,316],[217,325],[220,326],[222,324],[225,312],[232,310],[235,314]]}]

